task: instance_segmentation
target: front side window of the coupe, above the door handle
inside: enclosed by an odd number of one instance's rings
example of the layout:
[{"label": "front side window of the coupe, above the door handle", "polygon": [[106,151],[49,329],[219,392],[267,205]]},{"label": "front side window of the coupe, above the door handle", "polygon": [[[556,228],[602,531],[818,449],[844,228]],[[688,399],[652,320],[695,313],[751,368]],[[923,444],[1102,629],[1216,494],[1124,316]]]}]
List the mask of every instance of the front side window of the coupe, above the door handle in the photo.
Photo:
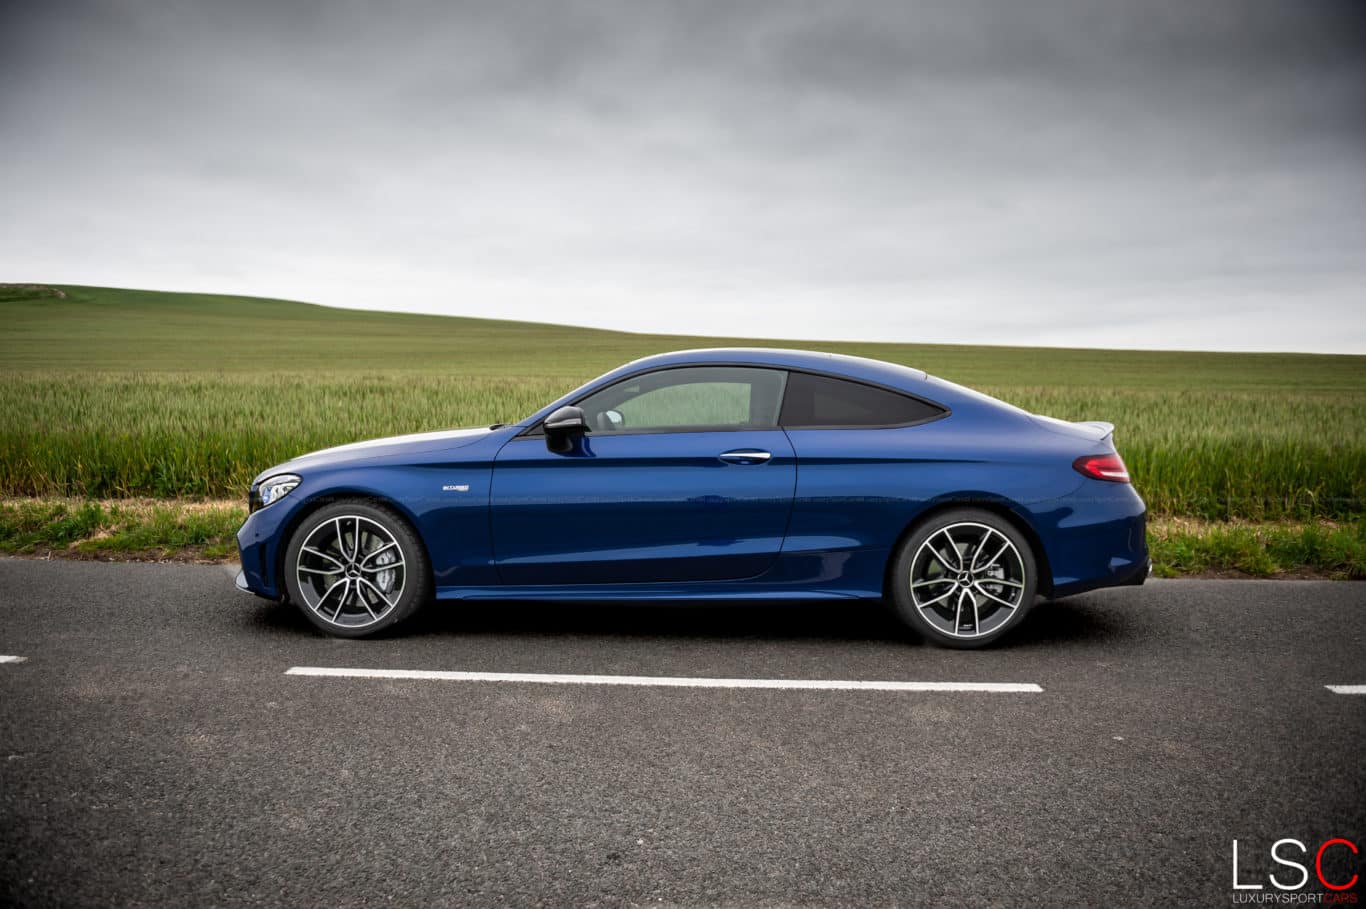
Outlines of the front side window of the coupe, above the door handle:
[{"label": "front side window of the coupe, above the door handle", "polygon": [[773,428],[787,373],[684,366],[635,376],[579,402],[594,432]]}]

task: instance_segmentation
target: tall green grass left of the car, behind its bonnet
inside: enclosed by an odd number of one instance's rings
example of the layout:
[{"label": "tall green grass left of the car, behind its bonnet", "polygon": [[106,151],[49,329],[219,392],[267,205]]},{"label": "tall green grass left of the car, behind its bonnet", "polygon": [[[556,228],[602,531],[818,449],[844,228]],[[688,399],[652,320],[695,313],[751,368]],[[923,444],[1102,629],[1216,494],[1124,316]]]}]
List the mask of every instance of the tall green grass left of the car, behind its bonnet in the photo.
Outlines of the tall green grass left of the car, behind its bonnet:
[{"label": "tall green grass left of the car, behind its bonnet", "polygon": [[518,420],[575,383],[346,373],[10,377],[0,492],[238,496],[294,455],[376,436]]}]

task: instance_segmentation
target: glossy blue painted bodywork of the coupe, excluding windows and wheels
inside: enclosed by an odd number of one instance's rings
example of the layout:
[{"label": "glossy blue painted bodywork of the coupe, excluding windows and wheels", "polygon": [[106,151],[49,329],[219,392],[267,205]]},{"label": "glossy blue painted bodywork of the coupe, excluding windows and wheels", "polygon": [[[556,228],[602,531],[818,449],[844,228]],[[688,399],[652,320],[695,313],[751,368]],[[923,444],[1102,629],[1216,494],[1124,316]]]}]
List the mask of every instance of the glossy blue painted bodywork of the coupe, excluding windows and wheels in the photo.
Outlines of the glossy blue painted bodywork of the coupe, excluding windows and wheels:
[{"label": "glossy blue painted bodywork of the coupe, excluding windows and wheels", "polygon": [[[555,409],[638,373],[749,365],[844,376],[943,406],[900,428],[728,428],[590,433],[571,451],[535,435]],[[768,452],[768,461],[721,459]],[[438,599],[709,600],[882,595],[888,560],[932,510],[985,506],[1037,541],[1042,592],[1142,578],[1145,507],[1072,461],[1113,451],[1104,428],[1059,424],[923,372],[768,349],[627,364],[499,429],[343,446],[264,470],[299,487],[238,533],[247,588],[283,595],[298,522],[339,496],[382,499],[425,543]],[[254,484],[255,485],[255,484]]]}]

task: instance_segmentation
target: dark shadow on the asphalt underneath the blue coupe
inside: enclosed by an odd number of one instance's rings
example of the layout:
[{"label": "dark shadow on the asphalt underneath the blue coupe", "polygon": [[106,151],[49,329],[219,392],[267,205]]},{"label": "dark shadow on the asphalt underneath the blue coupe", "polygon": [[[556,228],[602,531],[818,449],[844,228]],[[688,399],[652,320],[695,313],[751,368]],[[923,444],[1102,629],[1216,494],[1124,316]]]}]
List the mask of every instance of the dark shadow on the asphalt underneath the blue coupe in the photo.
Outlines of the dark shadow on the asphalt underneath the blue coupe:
[{"label": "dark shadow on the asphalt underneath the blue coupe", "polygon": [[[262,626],[318,634],[292,606],[262,606]],[[377,637],[598,637],[929,644],[881,603],[538,603],[523,600],[438,601]],[[1113,644],[1132,636],[1121,608],[1087,596],[1040,601],[996,649]]]}]

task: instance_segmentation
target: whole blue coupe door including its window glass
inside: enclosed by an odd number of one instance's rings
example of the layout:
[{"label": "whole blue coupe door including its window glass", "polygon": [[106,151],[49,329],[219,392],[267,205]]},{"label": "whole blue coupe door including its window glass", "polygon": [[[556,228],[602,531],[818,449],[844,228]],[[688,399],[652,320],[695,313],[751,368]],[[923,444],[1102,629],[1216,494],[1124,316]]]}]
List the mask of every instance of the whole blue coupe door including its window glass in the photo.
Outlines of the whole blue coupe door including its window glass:
[{"label": "whole blue coupe door including its window glass", "polygon": [[508,585],[719,581],[777,558],[796,463],[777,428],[787,373],[683,366],[576,402],[591,432],[535,428],[493,466],[494,563]]}]

